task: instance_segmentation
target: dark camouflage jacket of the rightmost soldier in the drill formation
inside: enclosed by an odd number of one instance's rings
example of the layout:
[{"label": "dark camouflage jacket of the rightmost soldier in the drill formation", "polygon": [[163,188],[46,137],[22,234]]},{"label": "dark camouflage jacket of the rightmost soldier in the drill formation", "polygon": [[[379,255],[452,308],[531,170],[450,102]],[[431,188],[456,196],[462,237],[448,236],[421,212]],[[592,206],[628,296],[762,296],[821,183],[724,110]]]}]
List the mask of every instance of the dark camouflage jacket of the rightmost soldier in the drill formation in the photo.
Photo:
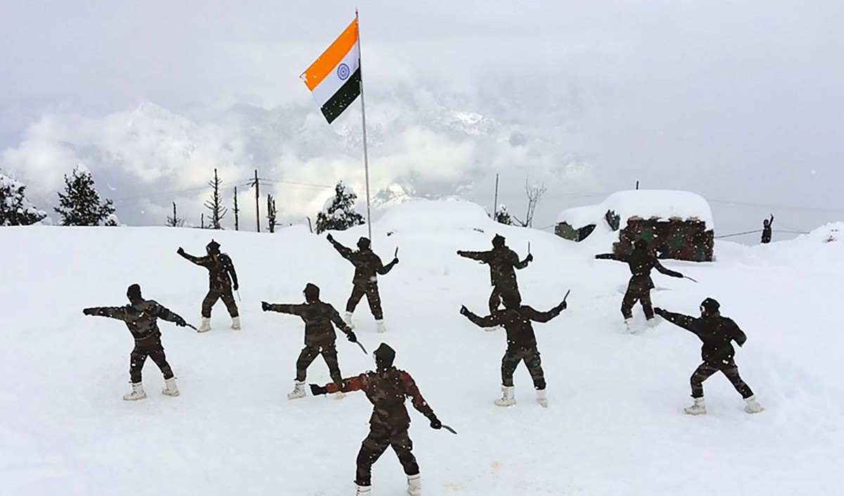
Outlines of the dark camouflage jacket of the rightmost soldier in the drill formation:
[{"label": "dark camouflage jacket of the rightmost soldier in the drill formation", "polygon": [[694,332],[701,338],[703,342],[701,358],[704,362],[718,363],[732,359],[735,355],[732,342],[735,341],[738,346],[742,346],[747,341],[747,335],[733,319],[722,317],[720,314],[692,317],[661,310],[659,315],[675,326]]}]

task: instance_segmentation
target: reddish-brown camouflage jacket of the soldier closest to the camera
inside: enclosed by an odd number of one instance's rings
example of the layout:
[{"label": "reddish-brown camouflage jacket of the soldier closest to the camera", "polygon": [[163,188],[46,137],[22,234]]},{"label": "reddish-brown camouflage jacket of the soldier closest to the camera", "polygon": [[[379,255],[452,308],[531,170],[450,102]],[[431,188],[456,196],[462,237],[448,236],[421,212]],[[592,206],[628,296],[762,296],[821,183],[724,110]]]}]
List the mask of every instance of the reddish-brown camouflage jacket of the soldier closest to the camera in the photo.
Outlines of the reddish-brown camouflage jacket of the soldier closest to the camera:
[{"label": "reddish-brown camouflage jacket of the soldier closest to the camera", "polygon": [[374,407],[370,418],[372,426],[383,425],[390,429],[408,429],[410,416],[408,409],[404,407],[406,397],[411,398],[414,408],[426,418],[429,420],[435,418],[434,410],[419,393],[413,377],[395,367],[390,367],[383,372],[369,371],[357,377],[344,379],[342,385],[330,383],[325,387],[329,393],[364,391]]}]

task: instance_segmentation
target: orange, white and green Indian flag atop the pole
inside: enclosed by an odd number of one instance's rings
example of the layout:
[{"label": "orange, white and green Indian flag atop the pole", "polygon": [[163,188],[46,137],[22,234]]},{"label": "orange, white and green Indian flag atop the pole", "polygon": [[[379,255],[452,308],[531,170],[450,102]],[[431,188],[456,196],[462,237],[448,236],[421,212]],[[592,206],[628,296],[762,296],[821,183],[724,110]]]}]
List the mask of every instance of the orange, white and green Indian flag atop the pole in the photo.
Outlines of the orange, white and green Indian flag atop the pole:
[{"label": "orange, white and green Indian flag atop the pole", "polygon": [[300,78],[311,90],[329,124],[352,105],[360,94],[358,19],[349,24]]}]

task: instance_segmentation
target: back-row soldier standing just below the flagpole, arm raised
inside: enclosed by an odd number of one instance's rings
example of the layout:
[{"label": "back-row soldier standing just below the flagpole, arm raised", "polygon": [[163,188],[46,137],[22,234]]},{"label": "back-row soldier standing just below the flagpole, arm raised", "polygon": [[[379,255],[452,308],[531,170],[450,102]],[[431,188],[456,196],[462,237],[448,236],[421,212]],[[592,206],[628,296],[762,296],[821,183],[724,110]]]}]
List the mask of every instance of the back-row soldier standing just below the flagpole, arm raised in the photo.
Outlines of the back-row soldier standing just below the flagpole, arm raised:
[{"label": "back-row soldier standing just below the flagpole, arm raised", "polygon": [[349,327],[354,328],[354,325],[352,325],[352,313],[354,313],[354,308],[360,303],[360,299],[366,295],[366,301],[369,302],[372,316],[375,317],[376,330],[378,332],[387,331],[387,328],[384,326],[384,313],[381,311],[381,295],[378,294],[378,275],[383,276],[387,272],[390,272],[392,267],[398,263],[398,257],[393,257],[390,263],[384,265],[381,263],[381,258],[372,251],[371,242],[368,238],[360,238],[358,240],[357,251],[341,245],[338,241],[334,240],[331,234],[327,235],[326,239],[341,256],[354,265],[352,294],[349,296],[349,301],[346,302],[344,321],[346,321]]}]

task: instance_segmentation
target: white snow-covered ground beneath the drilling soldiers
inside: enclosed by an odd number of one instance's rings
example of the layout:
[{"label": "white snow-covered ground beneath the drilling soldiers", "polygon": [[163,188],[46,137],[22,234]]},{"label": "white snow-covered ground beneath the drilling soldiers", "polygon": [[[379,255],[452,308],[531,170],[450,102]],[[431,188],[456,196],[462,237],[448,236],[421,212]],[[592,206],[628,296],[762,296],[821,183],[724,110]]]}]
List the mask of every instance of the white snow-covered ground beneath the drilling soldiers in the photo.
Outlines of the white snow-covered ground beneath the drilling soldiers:
[{"label": "white snow-covered ground beneath the drilling soldiers", "polygon": [[[713,263],[665,262],[699,284],[654,275],[655,305],[696,315],[711,296],[747,332],[737,361],[766,407],[757,415],[721,375],[705,385],[708,415],[682,413],[700,342],[666,322],[622,331],[627,267],[592,259],[609,250],[606,236],[576,244],[492,224],[465,202],[404,203],[373,226],[376,252],[386,261],[398,246],[401,262],[381,278],[388,332],[376,334],[365,302],[356,331],[370,351],[382,340],[396,348],[396,364],[459,432],[411,412],[426,495],[839,494],[844,240],[827,242],[834,229],[844,224],[771,245],[718,242]],[[504,334],[458,314],[461,304],[483,313],[490,288],[487,268],[455,251],[489,249],[496,232],[520,256],[531,244],[536,260],[518,272],[527,304],[547,310],[571,288],[569,310],[534,326],[548,409],[523,368],[517,406],[492,405]],[[365,226],[335,237],[354,245],[360,235]],[[208,334],[160,322],[182,394],[160,395],[148,362],[148,399],[123,402],[132,338],[82,308],[123,305],[140,283],[146,298],[198,324],[207,272],[176,248],[202,254],[212,236],[240,275],[243,330],[228,328],[222,303]],[[353,268],[323,236],[33,226],[0,229],[0,257],[0,494],[354,493],[370,403],[362,393],[289,402],[303,326],[260,310],[262,299],[300,302],[308,282],[342,310]],[[338,350],[346,376],[373,367],[342,337]],[[308,381],[327,380],[317,359]],[[374,496],[403,494],[392,452],[373,483]]]}]

